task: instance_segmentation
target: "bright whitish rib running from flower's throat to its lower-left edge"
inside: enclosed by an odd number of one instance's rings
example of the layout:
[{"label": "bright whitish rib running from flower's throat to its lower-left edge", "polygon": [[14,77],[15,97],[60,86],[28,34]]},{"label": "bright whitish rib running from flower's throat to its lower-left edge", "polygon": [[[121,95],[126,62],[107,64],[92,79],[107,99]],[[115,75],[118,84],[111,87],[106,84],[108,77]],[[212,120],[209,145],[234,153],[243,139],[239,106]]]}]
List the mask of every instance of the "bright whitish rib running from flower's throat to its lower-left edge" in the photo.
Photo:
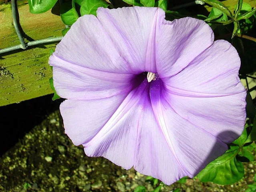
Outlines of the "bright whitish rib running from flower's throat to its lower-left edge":
[{"label": "bright whitish rib running from flower's throat to its lower-left edge", "polygon": [[89,141],[83,144],[84,147],[90,146],[93,142],[101,141],[103,137],[107,136],[108,132],[117,124],[125,114],[140,101],[140,95],[147,90],[149,86],[147,79],[145,79],[140,86],[132,90],[128,96],[123,100],[115,113],[106,122],[106,124],[99,130],[99,132]]}]

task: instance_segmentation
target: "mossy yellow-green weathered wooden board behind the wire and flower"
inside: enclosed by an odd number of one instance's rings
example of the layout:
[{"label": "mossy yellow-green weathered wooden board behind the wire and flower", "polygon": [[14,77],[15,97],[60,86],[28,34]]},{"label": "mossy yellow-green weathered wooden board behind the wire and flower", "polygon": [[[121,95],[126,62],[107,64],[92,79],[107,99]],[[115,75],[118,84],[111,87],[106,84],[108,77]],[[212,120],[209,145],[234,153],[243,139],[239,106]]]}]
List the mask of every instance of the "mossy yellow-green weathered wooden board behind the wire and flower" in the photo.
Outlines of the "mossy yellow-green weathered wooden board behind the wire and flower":
[{"label": "mossy yellow-green weathered wooden board behind the wire and flower", "polygon": [[[244,0],[252,7],[256,0]],[[226,0],[224,4],[234,9],[236,0]],[[204,7],[202,6],[202,9]],[[209,6],[205,6],[210,11]],[[60,16],[51,11],[44,14],[30,14],[27,0],[18,1],[20,25],[25,32],[25,41],[61,36],[65,28]],[[12,25],[11,5],[0,5],[0,49],[20,44]],[[49,78],[52,71],[48,66],[50,49],[56,43],[30,47],[0,55],[0,106],[21,102],[31,98],[51,94]]]}]

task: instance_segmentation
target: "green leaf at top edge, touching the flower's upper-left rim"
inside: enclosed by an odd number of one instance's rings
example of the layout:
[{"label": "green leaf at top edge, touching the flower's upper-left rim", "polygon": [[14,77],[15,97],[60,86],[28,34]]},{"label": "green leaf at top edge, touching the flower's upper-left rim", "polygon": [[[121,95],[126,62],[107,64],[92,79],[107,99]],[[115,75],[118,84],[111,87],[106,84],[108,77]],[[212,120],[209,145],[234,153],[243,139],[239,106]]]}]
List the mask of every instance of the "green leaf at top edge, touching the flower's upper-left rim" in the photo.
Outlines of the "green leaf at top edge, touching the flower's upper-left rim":
[{"label": "green leaf at top edge, touching the flower's upper-left rim", "polygon": [[81,8],[80,13],[81,16],[92,14],[96,16],[96,11],[99,7],[107,8],[109,4],[105,0],[84,0]]}]

